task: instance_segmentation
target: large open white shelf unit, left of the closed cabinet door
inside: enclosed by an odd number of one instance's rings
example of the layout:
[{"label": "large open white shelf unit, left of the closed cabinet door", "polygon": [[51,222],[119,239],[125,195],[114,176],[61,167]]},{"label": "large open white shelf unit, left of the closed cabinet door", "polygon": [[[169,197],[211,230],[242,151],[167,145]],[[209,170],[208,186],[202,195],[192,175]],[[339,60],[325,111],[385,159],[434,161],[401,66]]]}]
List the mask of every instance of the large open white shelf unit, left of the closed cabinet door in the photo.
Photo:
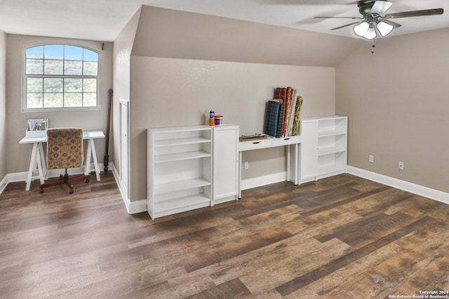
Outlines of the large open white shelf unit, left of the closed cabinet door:
[{"label": "large open white shelf unit, left of the closed cabinet door", "polygon": [[212,127],[147,130],[147,210],[153,219],[212,200]]}]

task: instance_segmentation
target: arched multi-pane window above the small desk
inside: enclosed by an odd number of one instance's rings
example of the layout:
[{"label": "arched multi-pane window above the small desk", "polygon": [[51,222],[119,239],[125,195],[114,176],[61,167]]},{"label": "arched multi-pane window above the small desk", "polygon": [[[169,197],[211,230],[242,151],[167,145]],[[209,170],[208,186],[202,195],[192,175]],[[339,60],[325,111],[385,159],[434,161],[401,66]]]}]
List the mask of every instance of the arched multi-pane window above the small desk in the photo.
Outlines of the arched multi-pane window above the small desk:
[{"label": "arched multi-pane window above the small desk", "polygon": [[24,50],[23,111],[100,108],[100,60],[93,50],[43,45]]}]

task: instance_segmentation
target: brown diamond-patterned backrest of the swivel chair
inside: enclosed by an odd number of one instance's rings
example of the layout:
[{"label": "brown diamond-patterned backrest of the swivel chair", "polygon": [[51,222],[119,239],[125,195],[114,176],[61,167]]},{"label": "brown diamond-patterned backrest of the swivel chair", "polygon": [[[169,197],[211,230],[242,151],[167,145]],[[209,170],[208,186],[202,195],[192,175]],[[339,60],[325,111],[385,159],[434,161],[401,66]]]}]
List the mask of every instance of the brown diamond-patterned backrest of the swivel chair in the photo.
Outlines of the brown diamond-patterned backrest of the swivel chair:
[{"label": "brown diamond-patterned backrest of the swivel chair", "polygon": [[51,128],[47,130],[47,168],[76,168],[83,165],[83,130]]}]

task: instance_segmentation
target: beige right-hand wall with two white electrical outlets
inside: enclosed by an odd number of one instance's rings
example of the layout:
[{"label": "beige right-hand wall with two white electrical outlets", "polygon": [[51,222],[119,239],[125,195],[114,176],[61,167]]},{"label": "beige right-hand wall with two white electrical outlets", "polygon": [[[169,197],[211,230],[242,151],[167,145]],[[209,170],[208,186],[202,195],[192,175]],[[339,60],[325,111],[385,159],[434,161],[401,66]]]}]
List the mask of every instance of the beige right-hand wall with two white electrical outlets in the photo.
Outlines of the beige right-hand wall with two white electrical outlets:
[{"label": "beige right-hand wall with two white electrical outlets", "polygon": [[379,39],[374,55],[366,43],[337,67],[349,165],[449,192],[448,36],[446,28]]}]

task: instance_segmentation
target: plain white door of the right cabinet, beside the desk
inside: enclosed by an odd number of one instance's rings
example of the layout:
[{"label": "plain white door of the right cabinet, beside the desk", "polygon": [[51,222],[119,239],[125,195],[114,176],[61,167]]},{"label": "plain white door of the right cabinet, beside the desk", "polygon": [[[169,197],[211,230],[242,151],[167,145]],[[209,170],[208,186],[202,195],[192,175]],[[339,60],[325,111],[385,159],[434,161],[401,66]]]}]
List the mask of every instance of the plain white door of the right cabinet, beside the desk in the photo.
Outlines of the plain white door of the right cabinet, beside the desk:
[{"label": "plain white door of the right cabinet, beside the desk", "polygon": [[318,122],[301,122],[300,183],[313,181],[318,169]]}]

